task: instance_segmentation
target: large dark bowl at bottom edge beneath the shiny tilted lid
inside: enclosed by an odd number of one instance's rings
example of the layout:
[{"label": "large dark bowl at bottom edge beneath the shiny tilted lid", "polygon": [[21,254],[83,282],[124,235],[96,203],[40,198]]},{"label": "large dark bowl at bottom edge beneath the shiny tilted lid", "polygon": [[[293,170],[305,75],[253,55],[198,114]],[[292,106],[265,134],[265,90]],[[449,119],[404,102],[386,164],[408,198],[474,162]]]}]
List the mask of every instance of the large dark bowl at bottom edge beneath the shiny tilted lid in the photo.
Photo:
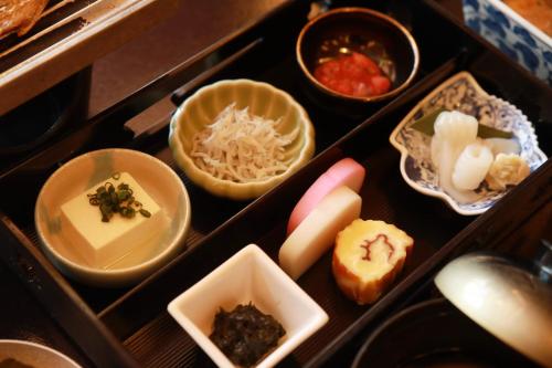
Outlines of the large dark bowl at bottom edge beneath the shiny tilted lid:
[{"label": "large dark bowl at bottom edge beneath the shiny tilted lid", "polygon": [[415,304],[384,322],[353,368],[538,367],[444,298]]}]

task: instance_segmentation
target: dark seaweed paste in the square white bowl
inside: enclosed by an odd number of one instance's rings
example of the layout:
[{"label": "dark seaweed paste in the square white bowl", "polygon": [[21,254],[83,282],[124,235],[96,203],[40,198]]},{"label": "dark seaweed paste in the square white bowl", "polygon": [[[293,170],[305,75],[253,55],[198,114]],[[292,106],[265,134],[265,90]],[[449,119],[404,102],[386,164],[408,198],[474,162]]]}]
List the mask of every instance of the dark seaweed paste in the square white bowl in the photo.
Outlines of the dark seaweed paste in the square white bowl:
[{"label": "dark seaweed paste in the square white bowl", "polygon": [[214,317],[210,338],[233,364],[251,367],[278,345],[285,334],[273,316],[250,303],[240,304],[231,312],[221,308]]}]

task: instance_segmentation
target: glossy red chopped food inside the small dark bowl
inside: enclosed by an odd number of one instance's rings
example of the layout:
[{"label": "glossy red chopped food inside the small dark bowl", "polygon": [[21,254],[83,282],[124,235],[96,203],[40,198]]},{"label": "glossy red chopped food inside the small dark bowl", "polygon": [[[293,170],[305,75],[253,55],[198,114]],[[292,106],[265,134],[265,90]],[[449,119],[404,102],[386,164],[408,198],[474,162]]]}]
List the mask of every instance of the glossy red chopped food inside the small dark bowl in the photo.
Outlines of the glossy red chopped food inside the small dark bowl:
[{"label": "glossy red chopped food inside the small dark bowl", "polygon": [[315,77],[332,91],[355,97],[378,96],[391,88],[391,81],[378,64],[358,52],[318,65]]}]

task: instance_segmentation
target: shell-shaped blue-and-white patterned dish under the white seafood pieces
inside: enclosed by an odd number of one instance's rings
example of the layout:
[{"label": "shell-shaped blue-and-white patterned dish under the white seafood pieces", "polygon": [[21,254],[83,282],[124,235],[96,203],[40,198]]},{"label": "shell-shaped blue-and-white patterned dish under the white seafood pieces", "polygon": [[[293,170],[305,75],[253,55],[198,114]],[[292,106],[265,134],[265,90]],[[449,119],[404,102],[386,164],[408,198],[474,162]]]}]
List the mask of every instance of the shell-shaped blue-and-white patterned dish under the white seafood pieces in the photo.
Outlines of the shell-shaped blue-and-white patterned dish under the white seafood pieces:
[{"label": "shell-shaped blue-and-white patterned dish under the white seafood pieces", "polygon": [[531,171],[546,160],[527,116],[516,106],[487,94],[468,72],[454,75],[406,115],[391,134],[390,141],[401,151],[401,174],[404,180],[421,193],[443,199],[460,214],[485,212],[506,191],[495,191],[481,186],[477,189],[481,196],[478,201],[459,203],[439,187],[431,159],[431,137],[411,127],[415,120],[438,107],[460,111],[475,116],[481,124],[512,132],[521,147],[520,156],[529,164]]}]

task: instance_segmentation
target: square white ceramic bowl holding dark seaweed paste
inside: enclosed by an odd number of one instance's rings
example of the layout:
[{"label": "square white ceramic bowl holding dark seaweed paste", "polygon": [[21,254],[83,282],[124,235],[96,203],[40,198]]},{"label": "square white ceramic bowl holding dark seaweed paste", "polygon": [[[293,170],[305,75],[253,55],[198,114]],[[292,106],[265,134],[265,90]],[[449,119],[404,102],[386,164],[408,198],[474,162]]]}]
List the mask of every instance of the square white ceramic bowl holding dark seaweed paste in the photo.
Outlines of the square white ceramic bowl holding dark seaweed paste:
[{"label": "square white ceramic bowl holding dark seaweed paste", "polygon": [[328,320],[328,315],[257,245],[250,244],[174,298],[169,313],[219,367],[234,367],[211,341],[219,308],[252,302],[276,318],[286,335],[256,367],[272,367]]}]

